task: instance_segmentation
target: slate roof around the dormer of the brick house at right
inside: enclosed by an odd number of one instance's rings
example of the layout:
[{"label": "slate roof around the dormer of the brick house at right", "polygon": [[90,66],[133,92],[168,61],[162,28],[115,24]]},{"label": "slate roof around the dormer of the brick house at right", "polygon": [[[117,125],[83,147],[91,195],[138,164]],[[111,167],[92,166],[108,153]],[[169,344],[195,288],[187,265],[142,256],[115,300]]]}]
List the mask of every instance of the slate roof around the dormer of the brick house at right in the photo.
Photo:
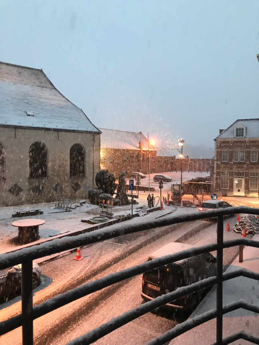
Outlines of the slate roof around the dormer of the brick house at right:
[{"label": "slate roof around the dormer of the brick house at right", "polygon": [[[246,126],[246,136],[242,138],[259,138],[259,119],[236,120],[232,125],[218,135],[217,138],[234,138],[234,128],[236,125]],[[238,139],[239,138],[240,137],[238,137]]]}]

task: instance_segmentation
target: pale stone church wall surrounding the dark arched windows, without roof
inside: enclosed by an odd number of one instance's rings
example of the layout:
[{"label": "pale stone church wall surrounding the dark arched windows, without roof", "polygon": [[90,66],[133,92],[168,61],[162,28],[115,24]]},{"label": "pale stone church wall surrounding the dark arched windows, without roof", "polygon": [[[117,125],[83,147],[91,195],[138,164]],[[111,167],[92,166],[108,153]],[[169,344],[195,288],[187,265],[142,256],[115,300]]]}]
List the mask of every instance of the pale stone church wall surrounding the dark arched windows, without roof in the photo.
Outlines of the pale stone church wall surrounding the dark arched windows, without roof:
[{"label": "pale stone church wall surrounding the dark arched windows, without roof", "polygon": [[[57,197],[80,199],[95,186],[100,168],[100,134],[93,132],[1,127],[4,148],[4,184],[0,206],[54,201]],[[36,141],[47,147],[47,177],[29,178],[29,148]],[[81,144],[85,150],[85,177],[69,176],[69,151]]]}]

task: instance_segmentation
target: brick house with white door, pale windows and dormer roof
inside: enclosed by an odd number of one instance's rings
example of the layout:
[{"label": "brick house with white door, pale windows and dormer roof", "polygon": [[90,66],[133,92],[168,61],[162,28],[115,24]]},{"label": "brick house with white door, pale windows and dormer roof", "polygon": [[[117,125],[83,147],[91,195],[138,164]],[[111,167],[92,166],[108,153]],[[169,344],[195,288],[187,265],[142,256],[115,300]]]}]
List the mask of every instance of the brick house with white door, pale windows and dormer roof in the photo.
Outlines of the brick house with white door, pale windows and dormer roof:
[{"label": "brick house with white door, pale windows and dormer roof", "polygon": [[215,140],[215,191],[258,197],[259,119],[235,121]]}]

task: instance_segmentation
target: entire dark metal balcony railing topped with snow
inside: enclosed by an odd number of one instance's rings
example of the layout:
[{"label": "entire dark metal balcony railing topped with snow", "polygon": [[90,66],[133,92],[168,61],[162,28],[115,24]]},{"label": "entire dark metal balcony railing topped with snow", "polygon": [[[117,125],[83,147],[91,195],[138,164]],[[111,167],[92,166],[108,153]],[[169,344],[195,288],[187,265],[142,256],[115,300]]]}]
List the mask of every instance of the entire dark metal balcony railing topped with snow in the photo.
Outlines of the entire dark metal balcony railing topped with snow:
[{"label": "entire dark metal balcony railing topped with snow", "polygon": [[[142,221],[141,224],[117,224],[110,226],[107,229],[101,229],[93,231],[93,233],[86,233],[74,237],[64,237],[62,239],[55,239],[48,243],[35,245],[29,248],[23,248],[16,252],[1,254],[0,255],[0,269],[4,269],[13,265],[22,264],[22,313],[15,317],[12,317],[6,321],[0,323],[0,335],[12,331],[13,329],[22,326],[22,344],[33,345],[33,320],[43,316],[57,308],[60,308],[74,300],[89,295],[97,290],[103,289],[104,287],[112,284],[121,282],[124,279],[133,277],[135,275],[144,273],[148,270],[159,268],[169,263],[185,259],[194,255],[199,255],[213,250],[217,250],[217,276],[203,279],[200,282],[178,288],[174,292],[162,295],[155,298],[150,302],[146,302],[138,306],[137,308],[131,309],[124,314],[113,318],[107,323],[93,329],[85,335],[70,341],[69,345],[86,345],[91,344],[102,338],[103,336],[111,333],[115,329],[125,325],[126,323],[136,319],[137,317],[144,315],[166,303],[170,303],[172,300],[188,295],[202,288],[206,288],[212,285],[217,285],[217,308],[216,310],[209,311],[202,315],[196,316],[191,320],[187,320],[170,331],[160,335],[153,339],[148,345],[164,344],[167,341],[177,337],[184,332],[201,325],[213,318],[217,318],[217,333],[216,338],[217,345],[230,344],[238,339],[245,339],[255,344],[259,344],[259,338],[255,338],[247,333],[241,331],[235,333],[227,338],[222,339],[222,317],[223,314],[229,313],[238,308],[247,309],[249,311],[259,313],[259,307],[248,304],[243,300],[239,300],[234,303],[230,303],[223,307],[222,305],[222,284],[223,281],[229,280],[235,277],[244,276],[252,279],[259,280],[259,274],[251,272],[246,269],[238,269],[234,272],[223,273],[223,248],[229,248],[237,245],[245,245],[259,248],[259,242],[253,241],[247,238],[240,238],[234,240],[228,240],[223,242],[223,216],[231,214],[259,214],[259,209],[250,207],[229,207],[226,209],[195,212],[183,216],[171,216],[166,218],[159,218],[150,222]],[[133,266],[119,272],[109,274],[106,277],[97,279],[95,281],[83,284],[75,289],[69,290],[63,294],[57,295],[48,299],[35,307],[32,306],[32,261],[40,257],[44,257],[51,254],[63,252],[64,250],[81,247],[90,243],[99,242],[108,238],[113,238],[125,234],[134,233],[146,229],[152,229],[159,226],[166,226],[176,223],[182,223],[186,221],[205,219],[210,217],[218,217],[217,224],[217,244],[209,244],[202,247],[191,248],[183,250],[182,252],[167,255],[161,258],[155,258],[152,261],[144,262],[140,265]]]}]

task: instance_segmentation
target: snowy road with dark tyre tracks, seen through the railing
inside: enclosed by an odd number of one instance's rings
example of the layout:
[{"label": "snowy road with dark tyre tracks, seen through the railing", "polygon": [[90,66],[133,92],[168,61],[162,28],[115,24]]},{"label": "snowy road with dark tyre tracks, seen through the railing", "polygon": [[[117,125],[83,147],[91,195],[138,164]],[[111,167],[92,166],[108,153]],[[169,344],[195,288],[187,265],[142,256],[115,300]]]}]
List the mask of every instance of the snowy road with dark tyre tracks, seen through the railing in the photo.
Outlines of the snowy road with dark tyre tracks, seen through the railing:
[{"label": "snowy road with dark tyre tracks, seen through the railing", "polygon": [[[230,219],[230,226],[234,224],[234,221],[234,218]],[[95,275],[94,279],[147,260],[150,253],[155,249],[162,247],[166,243],[175,241],[188,230],[197,226],[197,224],[201,224],[201,221],[178,226],[170,234],[155,240],[125,259],[115,263],[112,267]],[[161,228],[157,230],[161,230]],[[238,238],[239,236],[232,231],[224,231],[225,239]],[[33,304],[38,304],[46,298],[90,280],[89,272],[91,270],[102,265],[104,261],[114,255],[116,250],[125,250],[131,242],[135,243],[137,240],[136,238],[132,238],[132,241],[126,241],[125,239],[124,237],[124,240],[117,242],[114,242],[116,240],[104,241],[84,248],[82,255],[90,256],[79,262],[73,260],[75,256],[73,253],[42,265],[42,274],[51,278],[52,284],[35,294]],[[216,224],[201,230],[198,234],[185,241],[185,243],[190,243],[195,246],[212,242],[216,242]],[[236,253],[237,248],[224,250],[224,263],[229,263]],[[88,279],[86,279],[86,276]],[[86,333],[112,317],[139,305],[142,302],[140,292],[141,276],[137,276],[130,281],[103,289],[36,319],[34,322],[35,344],[66,344],[69,340]],[[20,302],[13,303],[8,308],[1,310],[1,321],[7,317],[17,315],[19,312]],[[121,327],[111,335],[100,339],[97,343],[145,344],[148,340],[172,328],[175,324],[176,322],[173,320],[148,313],[130,324]],[[21,344],[21,329],[2,336],[0,341],[2,344],[10,344],[14,342],[14,339],[17,345]]]}]

